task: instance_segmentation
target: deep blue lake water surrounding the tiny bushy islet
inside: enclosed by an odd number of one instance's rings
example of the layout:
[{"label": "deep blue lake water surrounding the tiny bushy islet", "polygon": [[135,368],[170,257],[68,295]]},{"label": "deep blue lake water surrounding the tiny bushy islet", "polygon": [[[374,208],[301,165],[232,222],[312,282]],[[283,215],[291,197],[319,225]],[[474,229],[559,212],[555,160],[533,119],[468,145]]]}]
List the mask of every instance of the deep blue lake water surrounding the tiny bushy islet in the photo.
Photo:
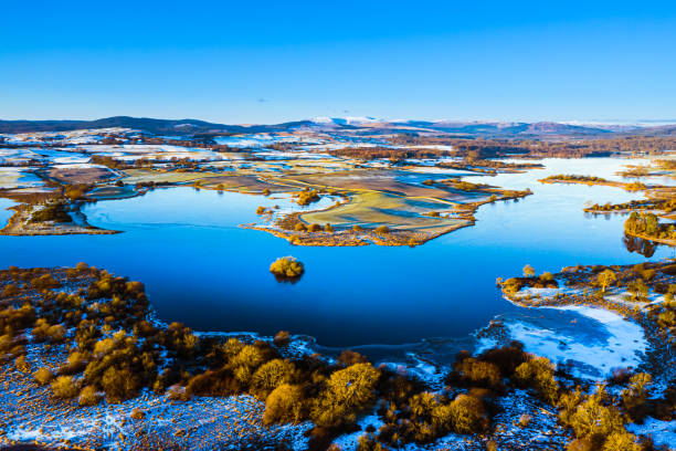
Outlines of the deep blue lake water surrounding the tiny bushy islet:
[{"label": "deep blue lake water surrounding the tiny bushy islet", "polygon": [[[536,181],[559,172],[614,178],[627,161],[545,162],[545,170],[473,177],[471,181],[530,188],[534,196],[484,206],[475,227],[413,249],[293,247],[239,227],[256,221],[257,206],[285,208],[288,200],[172,188],[86,208],[89,222],[124,233],[0,237],[0,266],[85,261],[142,281],[162,319],[201,331],[270,335],[286,329],[336,347],[466,337],[496,314],[517,310],[501,298],[495,280],[520,274],[527,263],[538,272],[557,272],[578,263],[646,259],[623,244],[624,218],[582,212],[585,201],[621,202],[638,195]],[[0,200],[0,207],[9,204]],[[0,220],[8,217],[0,212]],[[279,283],[268,266],[289,254],[305,263],[306,274],[295,284]],[[652,259],[665,256],[674,256],[674,250],[658,247]]]}]

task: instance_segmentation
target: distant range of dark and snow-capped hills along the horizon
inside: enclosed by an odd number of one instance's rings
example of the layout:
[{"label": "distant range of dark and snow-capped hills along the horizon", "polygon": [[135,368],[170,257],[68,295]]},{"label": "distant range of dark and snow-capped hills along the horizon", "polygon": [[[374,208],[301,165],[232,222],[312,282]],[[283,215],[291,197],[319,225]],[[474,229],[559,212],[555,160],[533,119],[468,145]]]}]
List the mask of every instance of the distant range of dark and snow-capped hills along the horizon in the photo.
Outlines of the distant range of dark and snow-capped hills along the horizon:
[{"label": "distant range of dark and snow-capped hills along the horizon", "polygon": [[0,120],[0,133],[71,132],[89,128],[124,127],[155,135],[216,136],[262,132],[363,132],[363,133],[443,133],[469,137],[493,138],[553,138],[594,137],[608,135],[676,135],[672,125],[604,125],[569,124],[556,122],[501,123],[450,120],[382,120],[373,117],[317,117],[308,120],[272,125],[225,125],[198,119],[154,119],[146,117],[115,116],[96,120]]}]

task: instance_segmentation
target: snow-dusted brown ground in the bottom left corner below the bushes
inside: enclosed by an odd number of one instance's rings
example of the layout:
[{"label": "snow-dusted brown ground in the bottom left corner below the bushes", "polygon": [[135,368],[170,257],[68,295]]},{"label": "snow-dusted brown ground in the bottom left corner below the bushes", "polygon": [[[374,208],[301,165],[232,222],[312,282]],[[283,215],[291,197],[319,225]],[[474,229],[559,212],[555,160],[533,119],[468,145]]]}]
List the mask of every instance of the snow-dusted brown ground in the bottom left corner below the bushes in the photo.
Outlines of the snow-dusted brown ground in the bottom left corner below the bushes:
[{"label": "snow-dusted brown ground in the bottom left corner below the bushes", "polygon": [[[294,339],[293,343],[300,340]],[[300,344],[305,346],[305,344]],[[27,359],[33,368],[54,367],[65,358],[64,347],[45,350],[28,345]],[[297,352],[294,347],[294,352]],[[144,448],[144,437],[168,440],[178,449],[240,450],[252,442],[291,443],[307,448],[305,432],[310,423],[266,427],[265,403],[252,396],[193,397],[171,401],[163,394],[144,390],[120,403],[77,407],[76,401],[55,401],[49,386],[38,386],[32,376],[12,365],[0,366],[0,448],[7,443],[38,442],[68,449],[134,450]],[[131,418],[133,412],[142,418]],[[146,445],[147,447],[147,445]]]}]

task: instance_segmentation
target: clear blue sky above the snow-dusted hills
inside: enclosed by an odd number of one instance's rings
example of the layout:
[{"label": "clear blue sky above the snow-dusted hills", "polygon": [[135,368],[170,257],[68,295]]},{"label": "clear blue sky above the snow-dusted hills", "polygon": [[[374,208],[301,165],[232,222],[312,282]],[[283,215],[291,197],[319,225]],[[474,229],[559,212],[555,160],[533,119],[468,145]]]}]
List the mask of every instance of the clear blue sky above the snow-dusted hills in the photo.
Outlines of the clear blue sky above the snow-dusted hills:
[{"label": "clear blue sky above the snow-dusted hills", "polygon": [[0,118],[676,119],[676,2],[6,1]]}]

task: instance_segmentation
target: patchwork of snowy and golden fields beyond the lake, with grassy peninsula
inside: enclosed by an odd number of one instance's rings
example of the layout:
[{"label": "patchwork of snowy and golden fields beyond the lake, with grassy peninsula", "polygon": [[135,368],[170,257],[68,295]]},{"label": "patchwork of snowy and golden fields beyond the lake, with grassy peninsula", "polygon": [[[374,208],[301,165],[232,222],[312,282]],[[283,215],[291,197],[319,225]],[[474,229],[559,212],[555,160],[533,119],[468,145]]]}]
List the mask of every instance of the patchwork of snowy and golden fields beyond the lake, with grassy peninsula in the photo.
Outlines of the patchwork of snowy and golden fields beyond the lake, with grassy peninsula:
[{"label": "patchwork of snowy and golden fields beyond the lake, with grassy peninsula", "polygon": [[[441,160],[434,158],[410,158],[402,166],[393,160],[324,153],[327,148],[363,146],[425,155],[420,150],[424,146],[389,145],[384,139],[372,137],[346,140],[332,134],[287,133],[202,143],[145,137],[135,130],[112,128],[101,134],[95,130],[64,135],[23,134],[7,141],[12,147],[2,150],[3,155],[13,158],[14,162],[30,158],[36,165],[31,172],[11,167],[0,172],[4,195],[27,206],[17,210],[11,228],[4,229],[4,233],[11,231],[12,234],[101,233],[88,227],[78,201],[114,201],[142,196],[155,187],[188,185],[197,189],[257,196],[299,196],[300,191],[314,189],[318,192],[317,199],[341,197],[338,206],[323,211],[308,211],[302,217],[275,211],[263,216],[263,223],[247,224],[299,244],[422,244],[471,226],[473,212],[483,203],[527,195],[472,183],[461,187],[463,178],[471,178],[476,172],[441,167],[437,165]],[[45,147],[40,148],[41,144]],[[252,147],[231,147],[234,145]],[[434,151],[434,155],[444,154],[444,150]],[[448,158],[444,156],[443,161],[447,162]],[[44,192],[25,191],[42,187],[45,187]],[[65,222],[31,224],[28,217],[19,216],[20,211],[32,211],[36,203],[56,198],[65,199],[70,210],[81,219],[82,227]],[[328,223],[336,227],[336,232],[296,233],[284,226],[295,227],[298,222]],[[346,235],[345,231],[355,226],[363,231]],[[373,234],[379,227],[391,233]]]}]

